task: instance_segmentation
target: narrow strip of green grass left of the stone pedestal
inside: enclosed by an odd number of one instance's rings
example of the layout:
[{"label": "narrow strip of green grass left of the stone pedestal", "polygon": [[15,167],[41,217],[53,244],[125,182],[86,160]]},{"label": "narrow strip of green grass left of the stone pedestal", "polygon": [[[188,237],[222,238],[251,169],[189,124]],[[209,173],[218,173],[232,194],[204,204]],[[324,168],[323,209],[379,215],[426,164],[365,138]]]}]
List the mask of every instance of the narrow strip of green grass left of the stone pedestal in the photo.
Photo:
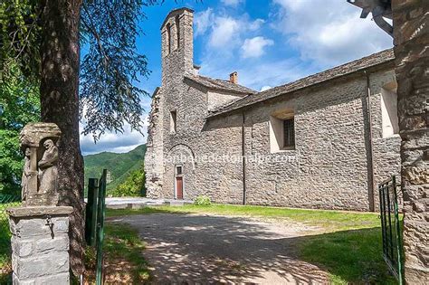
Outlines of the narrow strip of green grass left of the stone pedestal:
[{"label": "narrow strip of green grass left of the stone pedestal", "polygon": [[20,195],[0,195],[0,284],[8,283],[11,266],[11,233],[6,209],[21,204]]}]

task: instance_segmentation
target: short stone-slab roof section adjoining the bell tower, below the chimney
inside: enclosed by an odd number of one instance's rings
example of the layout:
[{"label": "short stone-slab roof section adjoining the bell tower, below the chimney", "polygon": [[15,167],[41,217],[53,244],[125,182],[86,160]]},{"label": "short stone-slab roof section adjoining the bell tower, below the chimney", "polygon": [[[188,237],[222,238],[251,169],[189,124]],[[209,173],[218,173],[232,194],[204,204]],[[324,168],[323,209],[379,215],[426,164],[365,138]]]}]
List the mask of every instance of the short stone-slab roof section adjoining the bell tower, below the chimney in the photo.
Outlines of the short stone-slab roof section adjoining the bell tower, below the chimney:
[{"label": "short stone-slab roof section adjoining the bell tower, below the chimney", "polygon": [[220,91],[226,91],[226,92],[239,93],[243,95],[256,93],[255,90],[247,88],[243,85],[235,84],[230,81],[209,78],[201,75],[186,75],[185,78],[187,80],[199,83],[210,90],[220,90]]}]

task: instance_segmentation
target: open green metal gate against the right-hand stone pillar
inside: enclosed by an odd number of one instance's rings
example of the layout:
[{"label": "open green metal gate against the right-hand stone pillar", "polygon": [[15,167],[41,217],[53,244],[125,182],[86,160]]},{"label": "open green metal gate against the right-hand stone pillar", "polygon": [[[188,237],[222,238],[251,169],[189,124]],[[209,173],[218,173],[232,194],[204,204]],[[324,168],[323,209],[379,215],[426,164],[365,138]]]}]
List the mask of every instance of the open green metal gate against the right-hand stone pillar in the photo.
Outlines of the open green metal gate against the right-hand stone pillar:
[{"label": "open green metal gate against the right-hand stone pillar", "polygon": [[398,190],[396,176],[392,176],[378,185],[380,198],[380,219],[383,239],[383,257],[389,270],[399,284],[404,282],[402,233],[397,204]]}]

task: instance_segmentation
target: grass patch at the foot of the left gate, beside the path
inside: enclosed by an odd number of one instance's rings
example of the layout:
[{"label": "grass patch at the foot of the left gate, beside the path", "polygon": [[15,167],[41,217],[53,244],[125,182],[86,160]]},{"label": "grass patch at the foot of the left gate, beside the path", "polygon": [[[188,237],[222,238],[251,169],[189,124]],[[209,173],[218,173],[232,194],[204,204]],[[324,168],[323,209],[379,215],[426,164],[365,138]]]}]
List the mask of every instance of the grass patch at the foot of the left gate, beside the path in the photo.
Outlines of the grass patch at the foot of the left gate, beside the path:
[{"label": "grass patch at the foot of the left gate, beside the path", "polygon": [[[144,242],[138,232],[125,223],[106,223],[103,244],[105,284],[142,284],[148,282],[148,263],[142,252]],[[86,280],[95,282],[96,253],[87,248],[85,254]]]}]

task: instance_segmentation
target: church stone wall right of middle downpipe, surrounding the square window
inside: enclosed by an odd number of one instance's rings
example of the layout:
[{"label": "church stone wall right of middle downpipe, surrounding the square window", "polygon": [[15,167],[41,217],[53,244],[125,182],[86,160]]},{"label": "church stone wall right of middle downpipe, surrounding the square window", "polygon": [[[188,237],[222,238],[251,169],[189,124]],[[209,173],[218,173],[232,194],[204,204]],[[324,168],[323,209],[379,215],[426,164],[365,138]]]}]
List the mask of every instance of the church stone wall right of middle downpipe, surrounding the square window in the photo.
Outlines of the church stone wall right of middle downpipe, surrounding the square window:
[{"label": "church stone wall right of middle downpipe, surrounding the square window", "polygon": [[[381,137],[381,86],[392,71],[370,78],[372,91],[375,199],[377,183],[399,174],[400,139]],[[365,77],[253,107],[245,113],[245,154],[266,162],[246,164],[248,204],[324,209],[369,209],[369,146]],[[293,109],[295,150],[270,153],[270,114]],[[281,160],[283,159],[283,160]]]}]

